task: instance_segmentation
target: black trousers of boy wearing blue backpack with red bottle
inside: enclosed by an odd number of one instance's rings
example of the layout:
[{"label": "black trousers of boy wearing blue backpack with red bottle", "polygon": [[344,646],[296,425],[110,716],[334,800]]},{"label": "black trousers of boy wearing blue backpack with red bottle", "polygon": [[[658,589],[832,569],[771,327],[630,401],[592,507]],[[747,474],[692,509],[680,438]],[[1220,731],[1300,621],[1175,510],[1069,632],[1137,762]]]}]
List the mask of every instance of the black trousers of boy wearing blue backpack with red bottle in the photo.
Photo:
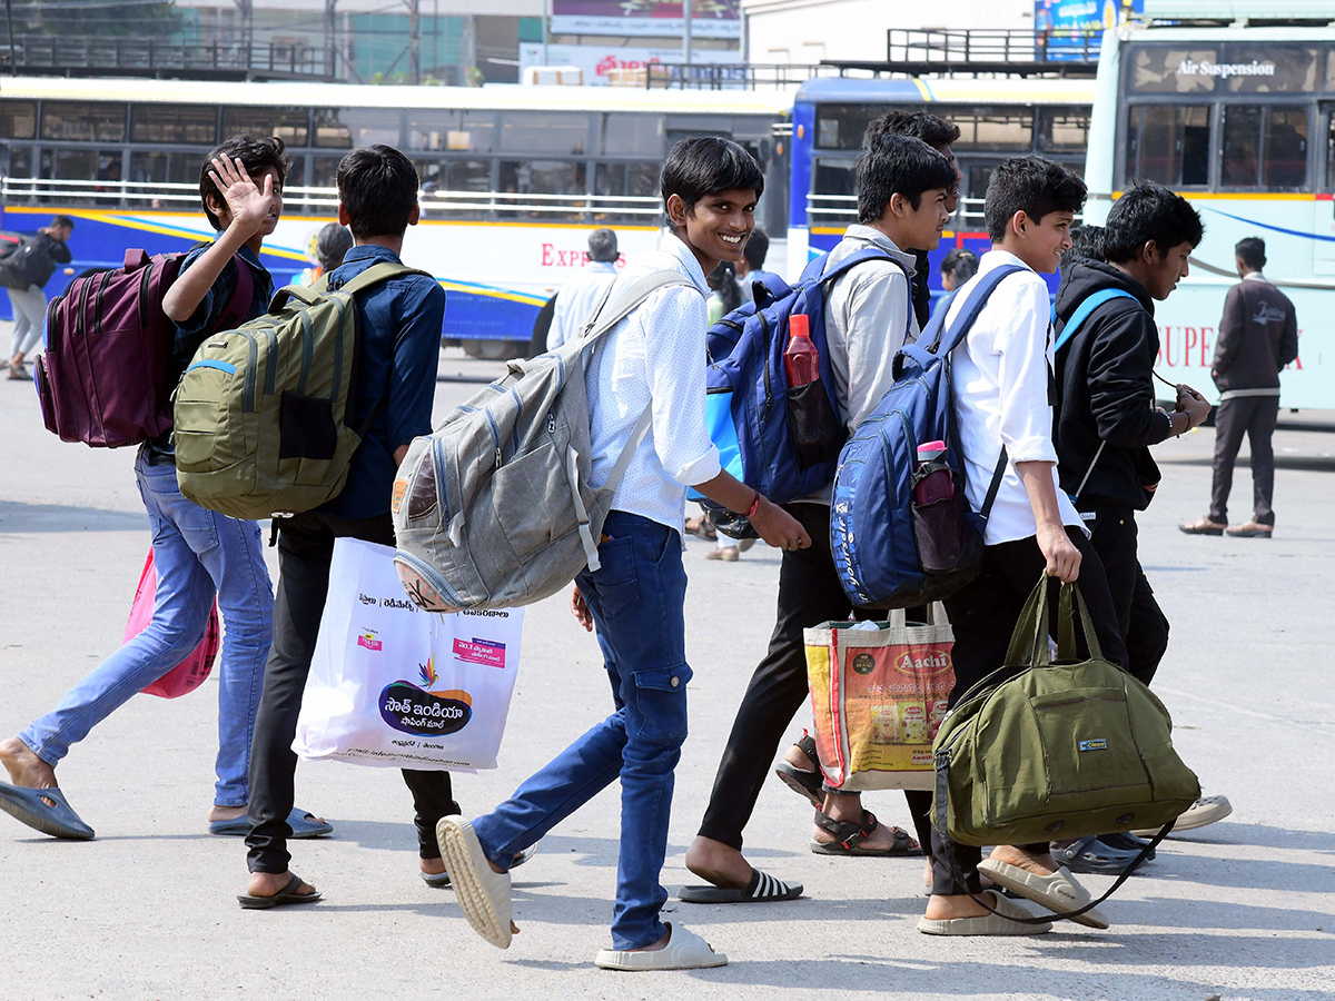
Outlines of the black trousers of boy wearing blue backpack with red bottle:
[{"label": "black trousers of boy wearing blue backpack with red bottle", "polygon": [[[769,774],[784,731],[808,695],[802,630],[822,622],[846,622],[853,606],[844,594],[830,554],[830,510],[796,503],[785,510],[812,537],[809,549],[784,553],[778,570],[778,613],[769,651],[752,674],[724,747],[700,834],[741,849],[761,786]],[[861,618],[881,613],[861,613]],[[932,794],[906,791],[913,826],[925,846],[930,837]]]}]

